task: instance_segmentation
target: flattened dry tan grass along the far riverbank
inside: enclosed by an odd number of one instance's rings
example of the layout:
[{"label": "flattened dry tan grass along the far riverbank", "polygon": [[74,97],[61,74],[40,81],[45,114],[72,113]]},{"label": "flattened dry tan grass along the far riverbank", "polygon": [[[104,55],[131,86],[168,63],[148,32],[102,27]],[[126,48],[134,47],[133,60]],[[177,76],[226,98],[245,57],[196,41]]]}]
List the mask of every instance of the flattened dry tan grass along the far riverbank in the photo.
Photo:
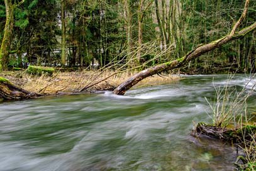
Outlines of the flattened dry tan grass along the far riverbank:
[{"label": "flattened dry tan grass along the far riverbank", "polygon": [[[81,90],[86,85],[94,84],[95,82],[102,80],[109,75],[113,75],[113,71],[92,72],[88,70],[82,70],[79,72],[58,72],[49,77],[47,75],[33,76],[28,75],[25,72],[2,72],[0,77],[5,77],[9,79],[16,85],[19,85],[23,89],[31,92],[40,92],[47,94],[57,94],[58,92],[75,92]],[[124,80],[131,77],[135,72],[123,72],[113,75],[109,79],[100,82],[99,84],[93,85],[87,91],[96,90],[111,90],[118,86]],[[154,76],[148,77],[142,80],[138,86],[147,85],[157,85],[157,84],[167,84],[173,82],[174,80],[179,80],[178,75],[164,75],[164,76]]]}]

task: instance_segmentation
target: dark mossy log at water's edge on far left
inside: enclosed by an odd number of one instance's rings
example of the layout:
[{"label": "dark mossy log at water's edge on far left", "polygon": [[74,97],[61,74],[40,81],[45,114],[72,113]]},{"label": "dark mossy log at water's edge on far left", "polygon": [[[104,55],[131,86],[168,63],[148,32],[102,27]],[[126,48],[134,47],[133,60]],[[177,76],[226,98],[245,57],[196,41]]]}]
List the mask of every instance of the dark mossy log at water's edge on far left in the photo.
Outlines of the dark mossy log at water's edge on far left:
[{"label": "dark mossy log at water's edge on far left", "polygon": [[0,77],[0,101],[31,99],[42,96],[35,92],[28,92],[9,82],[8,79]]}]

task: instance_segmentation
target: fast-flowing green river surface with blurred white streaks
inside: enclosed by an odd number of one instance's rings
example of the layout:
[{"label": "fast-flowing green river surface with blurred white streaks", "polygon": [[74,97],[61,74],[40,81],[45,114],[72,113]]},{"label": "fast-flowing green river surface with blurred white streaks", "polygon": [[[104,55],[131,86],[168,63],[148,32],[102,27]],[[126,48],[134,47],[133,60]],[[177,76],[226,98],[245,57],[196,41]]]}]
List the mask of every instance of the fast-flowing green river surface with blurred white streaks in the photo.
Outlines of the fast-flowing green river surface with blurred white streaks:
[{"label": "fast-flowing green river surface with blurred white streaks", "polygon": [[[213,80],[214,77],[214,80]],[[235,148],[194,138],[195,123],[211,123],[204,99],[227,75],[184,77],[172,84],[47,97],[0,104],[0,170],[234,170]],[[242,89],[248,77],[230,86]],[[248,113],[255,115],[255,94]]]}]

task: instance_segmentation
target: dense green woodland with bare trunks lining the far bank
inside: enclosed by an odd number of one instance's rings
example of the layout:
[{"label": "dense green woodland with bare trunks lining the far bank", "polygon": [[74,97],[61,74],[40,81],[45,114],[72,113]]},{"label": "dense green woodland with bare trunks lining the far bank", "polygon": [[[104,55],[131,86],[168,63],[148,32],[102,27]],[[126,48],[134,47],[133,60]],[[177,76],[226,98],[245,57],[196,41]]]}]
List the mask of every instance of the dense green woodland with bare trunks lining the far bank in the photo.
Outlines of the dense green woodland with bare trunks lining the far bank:
[{"label": "dense green woodland with bare trunks lining the far bank", "polygon": [[[243,6],[238,0],[0,0],[0,42],[7,42],[1,45],[1,67],[143,69],[227,35]],[[240,28],[255,21],[253,0]],[[255,72],[255,37],[256,31],[227,43],[181,71]]]}]

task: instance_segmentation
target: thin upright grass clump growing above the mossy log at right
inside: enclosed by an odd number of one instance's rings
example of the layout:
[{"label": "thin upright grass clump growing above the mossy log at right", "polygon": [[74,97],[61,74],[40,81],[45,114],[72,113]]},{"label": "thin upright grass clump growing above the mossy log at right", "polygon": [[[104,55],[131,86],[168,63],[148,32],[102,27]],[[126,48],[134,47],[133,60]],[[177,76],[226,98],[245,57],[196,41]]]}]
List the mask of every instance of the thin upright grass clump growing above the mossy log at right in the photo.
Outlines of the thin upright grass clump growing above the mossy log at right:
[{"label": "thin upright grass clump growing above the mossy log at right", "polygon": [[237,89],[237,86],[231,86],[231,79],[234,75],[229,75],[224,87],[214,85],[215,97],[213,101],[208,102],[211,113],[208,114],[213,120],[214,126],[220,126],[225,128],[230,124],[237,124],[237,119],[242,116],[245,109],[248,97],[253,93],[253,88],[251,90],[247,89],[247,85],[250,80],[245,84],[242,90]]}]

